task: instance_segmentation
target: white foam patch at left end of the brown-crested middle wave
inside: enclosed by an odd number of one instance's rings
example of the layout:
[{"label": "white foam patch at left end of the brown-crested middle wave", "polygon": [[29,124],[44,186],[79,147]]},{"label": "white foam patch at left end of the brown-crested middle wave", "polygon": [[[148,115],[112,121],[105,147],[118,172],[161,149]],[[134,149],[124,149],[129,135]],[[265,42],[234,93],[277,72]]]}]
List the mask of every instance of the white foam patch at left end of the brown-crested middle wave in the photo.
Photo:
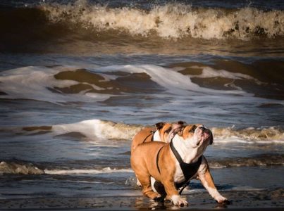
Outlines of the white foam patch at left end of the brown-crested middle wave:
[{"label": "white foam patch at left end of the brown-crested middle wave", "polygon": [[[25,98],[37,101],[48,101],[51,103],[63,103],[70,101],[104,101],[109,94],[58,94],[47,88],[70,87],[78,84],[73,80],[55,79],[54,75],[63,71],[78,70],[74,66],[61,66],[56,68],[25,67],[1,72],[0,90],[7,95],[0,98]],[[85,83],[87,84],[87,83]],[[94,84],[89,84],[94,89],[101,89]]]}]

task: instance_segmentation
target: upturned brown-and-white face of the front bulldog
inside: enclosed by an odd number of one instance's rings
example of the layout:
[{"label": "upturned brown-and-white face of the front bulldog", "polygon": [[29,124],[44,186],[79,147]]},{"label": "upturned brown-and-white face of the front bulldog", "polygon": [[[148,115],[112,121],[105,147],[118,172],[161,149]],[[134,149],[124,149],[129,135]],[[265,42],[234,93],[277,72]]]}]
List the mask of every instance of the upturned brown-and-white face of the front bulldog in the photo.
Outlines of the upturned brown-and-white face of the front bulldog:
[{"label": "upturned brown-and-white face of the front bulldog", "polygon": [[206,147],[213,143],[212,132],[202,124],[189,124],[179,134],[192,148]]}]

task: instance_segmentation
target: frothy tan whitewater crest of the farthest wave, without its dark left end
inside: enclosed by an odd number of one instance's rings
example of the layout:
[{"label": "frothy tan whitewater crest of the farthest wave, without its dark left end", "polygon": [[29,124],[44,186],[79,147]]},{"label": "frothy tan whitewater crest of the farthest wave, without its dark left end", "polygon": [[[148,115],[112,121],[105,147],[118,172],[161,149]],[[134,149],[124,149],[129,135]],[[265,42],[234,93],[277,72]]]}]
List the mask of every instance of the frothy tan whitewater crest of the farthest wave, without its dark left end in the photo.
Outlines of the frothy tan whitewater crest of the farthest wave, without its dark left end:
[{"label": "frothy tan whitewater crest of the farthest wave, without its dark left end", "polygon": [[185,4],[109,8],[87,1],[43,4],[51,23],[67,23],[96,32],[115,30],[132,36],[157,34],[163,39],[251,39],[284,35],[284,11],[257,8],[192,8]]}]

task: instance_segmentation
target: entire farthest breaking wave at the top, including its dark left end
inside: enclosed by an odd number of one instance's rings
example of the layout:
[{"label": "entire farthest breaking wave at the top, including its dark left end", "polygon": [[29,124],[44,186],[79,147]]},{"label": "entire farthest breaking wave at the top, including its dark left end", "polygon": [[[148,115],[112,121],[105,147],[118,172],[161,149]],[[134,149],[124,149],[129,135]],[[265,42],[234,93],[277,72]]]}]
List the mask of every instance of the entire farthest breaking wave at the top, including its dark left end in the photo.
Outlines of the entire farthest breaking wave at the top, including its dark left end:
[{"label": "entire farthest breaking wave at the top, including its dark left end", "polygon": [[148,8],[126,5],[111,7],[78,0],[69,4],[31,4],[14,10],[16,13],[13,10],[4,13],[4,19],[7,20],[4,26],[15,27],[12,23],[19,27],[27,25],[37,31],[36,35],[41,39],[74,33],[80,39],[93,41],[125,35],[171,40],[273,39],[284,35],[283,10],[262,10],[249,6],[206,8],[168,3],[152,4]]}]

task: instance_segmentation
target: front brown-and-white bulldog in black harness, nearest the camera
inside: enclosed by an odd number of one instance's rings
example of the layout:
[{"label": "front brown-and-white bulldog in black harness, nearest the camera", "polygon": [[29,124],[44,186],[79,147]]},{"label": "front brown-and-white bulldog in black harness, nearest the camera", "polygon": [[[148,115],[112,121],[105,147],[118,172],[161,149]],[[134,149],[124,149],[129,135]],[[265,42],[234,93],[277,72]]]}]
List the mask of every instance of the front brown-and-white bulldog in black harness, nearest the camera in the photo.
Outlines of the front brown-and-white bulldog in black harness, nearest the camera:
[{"label": "front brown-and-white bulldog in black harness, nearest the camera", "polygon": [[[227,201],[227,198],[218,193],[203,156],[206,147],[212,142],[213,135],[209,129],[200,124],[190,124],[175,134],[171,143],[151,141],[138,145],[132,151],[130,161],[137,179],[142,184],[144,196],[154,200],[166,197],[174,205],[187,205],[187,201],[180,197],[176,187],[185,182],[185,174],[190,168],[183,169],[180,162],[192,166],[199,162],[197,171],[190,179],[199,179],[218,203]],[[182,161],[179,161],[178,156]],[[166,196],[153,191],[151,177],[161,182]]]}]

